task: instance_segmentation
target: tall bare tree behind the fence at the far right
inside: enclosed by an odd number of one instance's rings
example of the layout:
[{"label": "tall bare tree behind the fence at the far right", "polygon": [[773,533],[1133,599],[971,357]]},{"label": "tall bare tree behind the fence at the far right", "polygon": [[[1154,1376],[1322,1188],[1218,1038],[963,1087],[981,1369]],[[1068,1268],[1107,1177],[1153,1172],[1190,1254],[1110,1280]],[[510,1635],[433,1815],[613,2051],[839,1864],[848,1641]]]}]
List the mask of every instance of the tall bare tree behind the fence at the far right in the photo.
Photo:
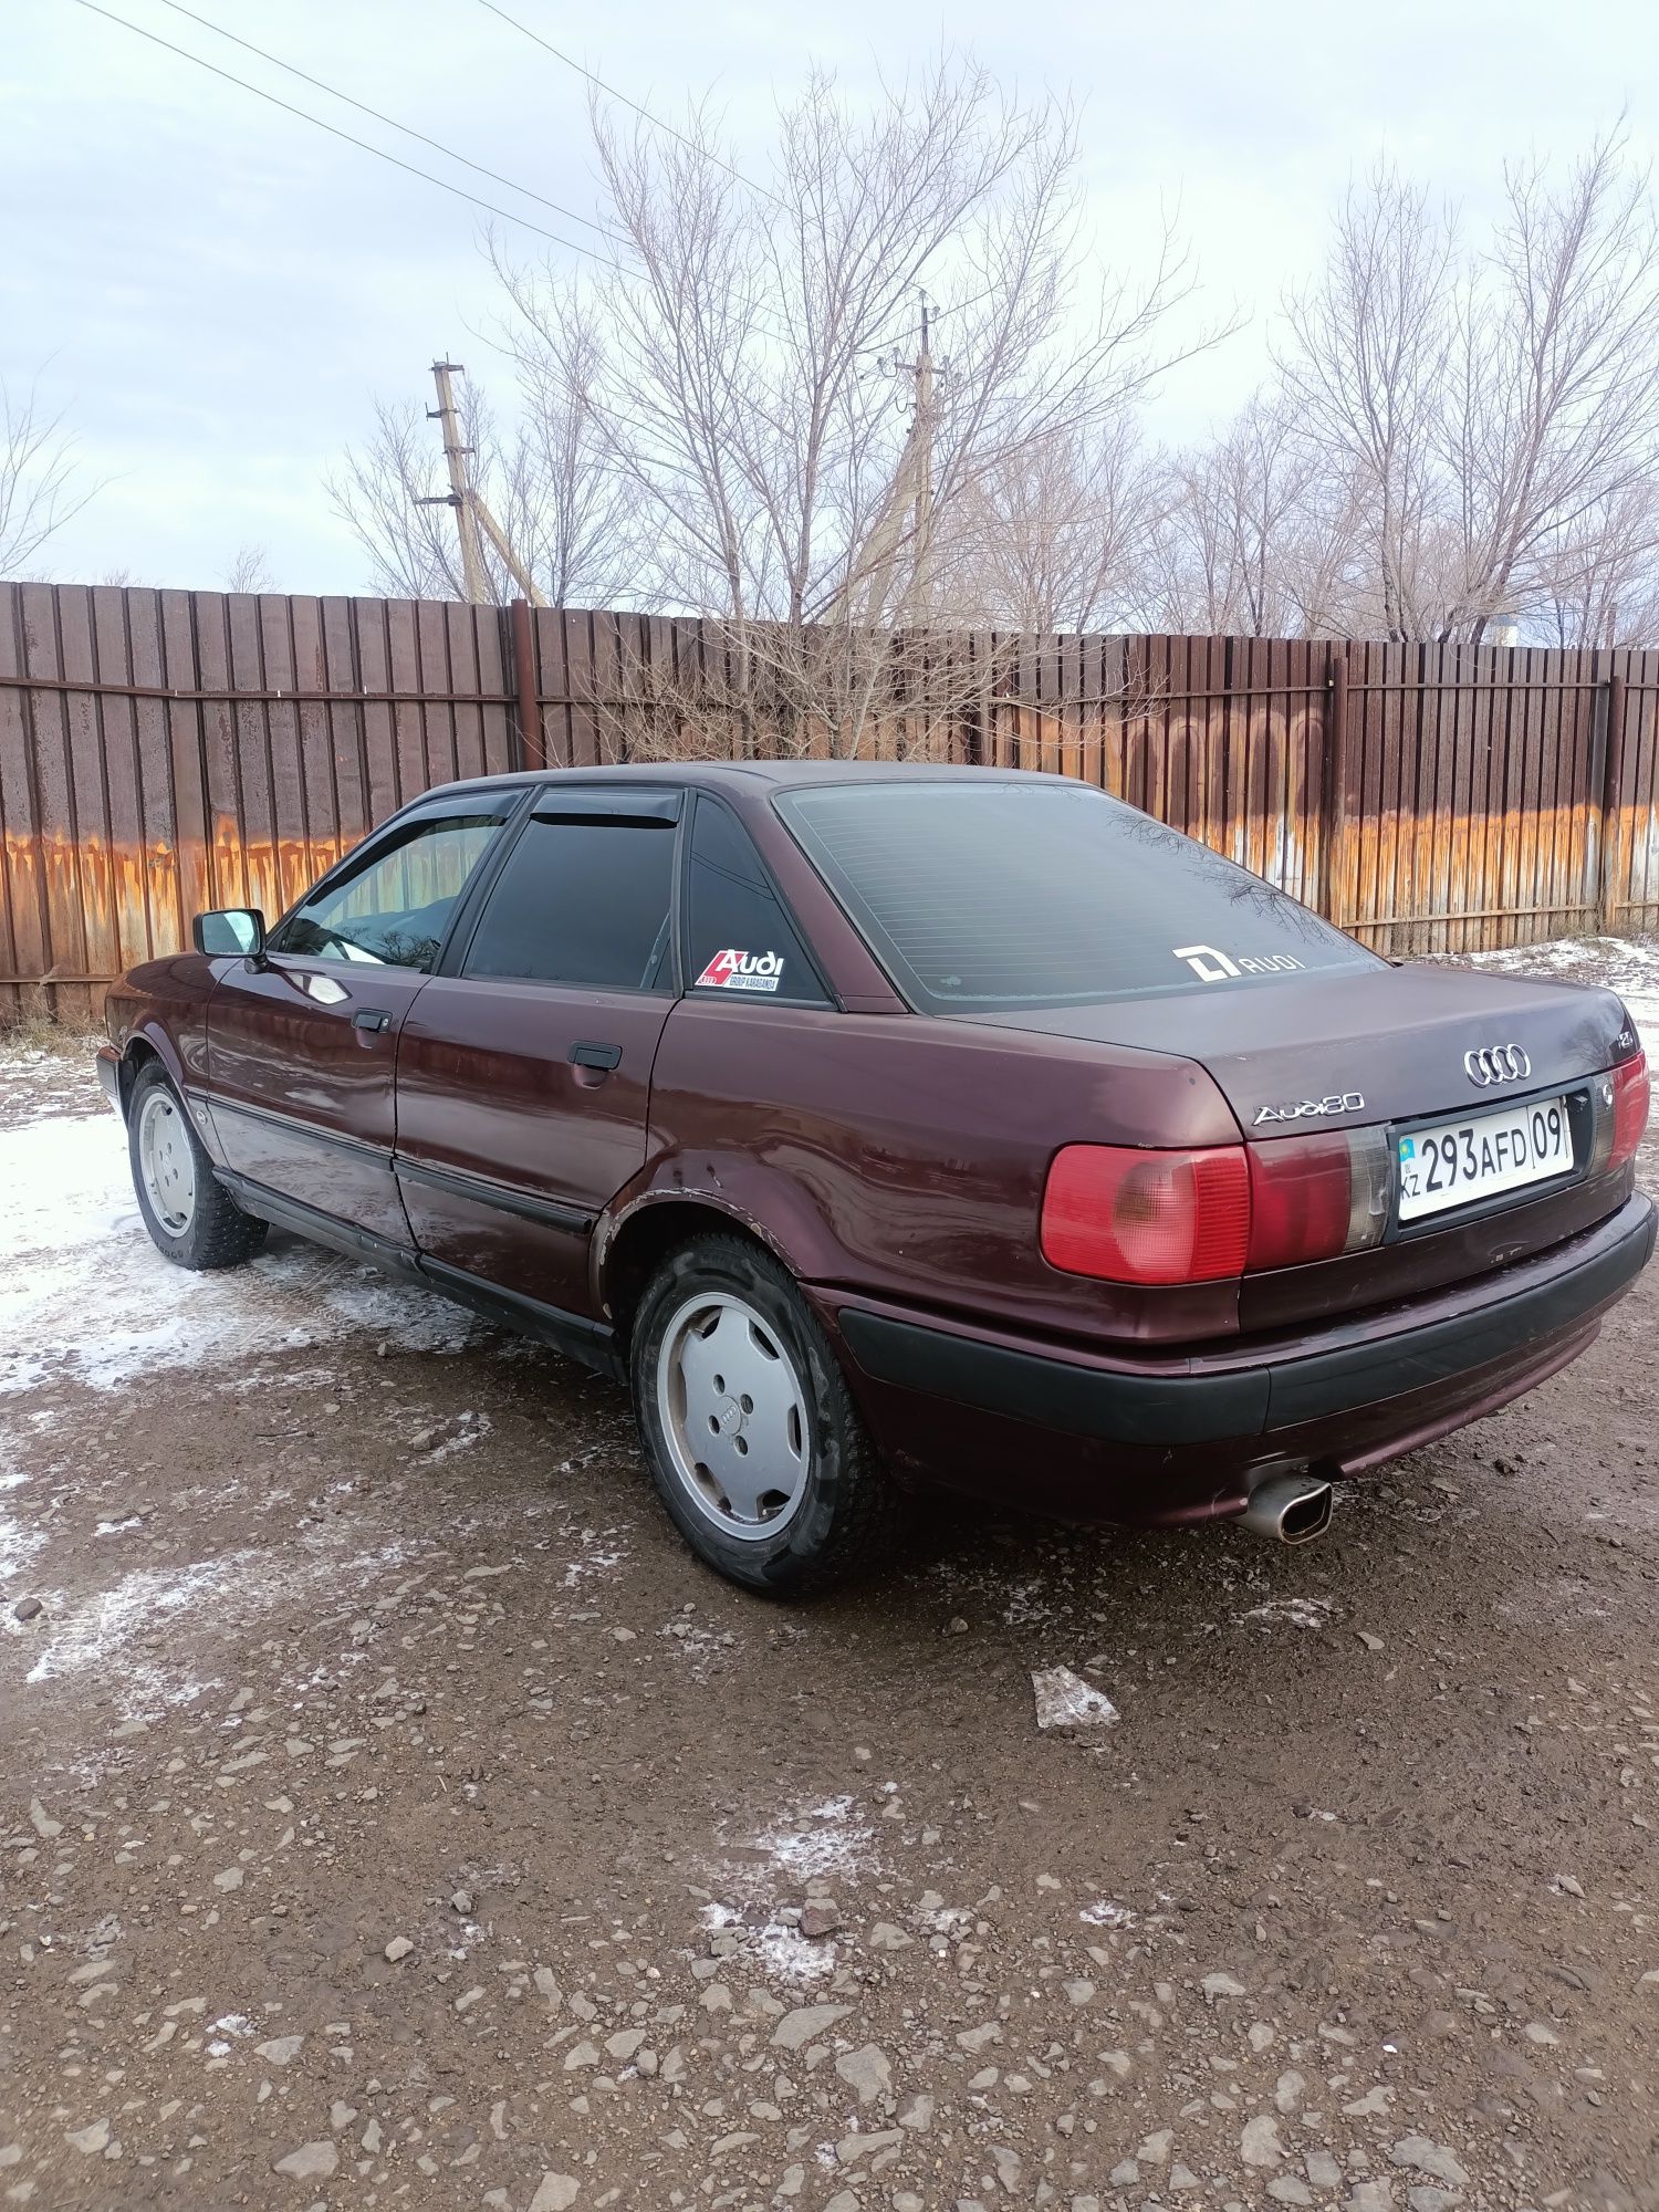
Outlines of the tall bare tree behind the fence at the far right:
[{"label": "tall bare tree behind the fence at the far right", "polygon": [[1349,188],[1279,376],[1325,491],[1358,493],[1347,626],[1480,641],[1659,465],[1659,228],[1621,133],[1504,170],[1480,252],[1391,166]]}]

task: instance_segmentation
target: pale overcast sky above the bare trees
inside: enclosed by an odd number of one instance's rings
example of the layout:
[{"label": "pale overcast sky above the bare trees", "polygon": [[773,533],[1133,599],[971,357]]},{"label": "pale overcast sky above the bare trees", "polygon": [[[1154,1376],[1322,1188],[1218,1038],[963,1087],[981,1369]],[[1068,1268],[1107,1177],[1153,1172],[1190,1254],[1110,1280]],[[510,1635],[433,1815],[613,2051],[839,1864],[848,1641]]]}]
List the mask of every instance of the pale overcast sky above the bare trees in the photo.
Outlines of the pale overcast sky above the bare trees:
[{"label": "pale overcast sky above the bare trees", "polygon": [[[584,82],[478,0],[190,4],[593,210]],[[1568,159],[1619,108],[1644,159],[1659,137],[1655,0],[507,4],[657,113],[712,86],[739,164],[757,168],[774,100],[812,60],[856,88],[876,71],[902,75],[947,35],[1009,84],[1075,93],[1102,261],[1133,268],[1159,204],[1179,204],[1199,307],[1237,301],[1250,314],[1241,336],[1168,378],[1152,409],[1166,438],[1248,398],[1285,283],[1318,261],[1332,201],[1378,150],[1478,215],[1504,155]],[[164,0],[108,7],[462,188],[571,228]],[[436,352],[489,376],[487,217],[77,0],[4,0],[0,13],[0,378],[15,389],[38,376],[88,473],[108,478],[53,542],[51,573],[217,586],[237,546],[259,544],[279,588],[363,588],[363,555],[321,478],[376,396],[429,394]],[[498,365],[495,376],[504,385]]]}]

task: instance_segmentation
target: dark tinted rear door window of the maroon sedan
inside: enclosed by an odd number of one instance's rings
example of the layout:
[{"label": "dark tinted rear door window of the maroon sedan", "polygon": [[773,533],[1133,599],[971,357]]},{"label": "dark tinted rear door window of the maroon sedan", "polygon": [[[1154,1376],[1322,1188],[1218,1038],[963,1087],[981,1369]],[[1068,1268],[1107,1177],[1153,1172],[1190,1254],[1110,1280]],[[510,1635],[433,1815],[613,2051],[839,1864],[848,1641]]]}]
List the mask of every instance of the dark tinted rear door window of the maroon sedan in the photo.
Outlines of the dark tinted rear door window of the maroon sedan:
[{"label": "dark tinted rear door window of the maroon sedan", "polygon": [[646,991],[668,951],[675,823],[535,814],[507,856],[467,975]]}]

